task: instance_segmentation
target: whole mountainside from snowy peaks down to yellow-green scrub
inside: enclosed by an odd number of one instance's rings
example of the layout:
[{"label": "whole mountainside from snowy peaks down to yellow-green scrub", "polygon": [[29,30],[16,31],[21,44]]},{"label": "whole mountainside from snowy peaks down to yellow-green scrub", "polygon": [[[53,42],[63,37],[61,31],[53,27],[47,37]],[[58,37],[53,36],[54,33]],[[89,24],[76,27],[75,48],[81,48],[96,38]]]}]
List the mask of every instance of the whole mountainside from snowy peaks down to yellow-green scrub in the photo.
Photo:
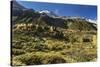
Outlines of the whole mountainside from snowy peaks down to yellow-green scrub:
[{"label": "whole mountainside from snowy peaks down to yellow-green scrub", "polygon": [[[11,65],[90,62],[97,59],[97,25],[13,2]],[[14,10],[13,10],[14,9]],[[18,10],[16,10],[18,9]]]}]

